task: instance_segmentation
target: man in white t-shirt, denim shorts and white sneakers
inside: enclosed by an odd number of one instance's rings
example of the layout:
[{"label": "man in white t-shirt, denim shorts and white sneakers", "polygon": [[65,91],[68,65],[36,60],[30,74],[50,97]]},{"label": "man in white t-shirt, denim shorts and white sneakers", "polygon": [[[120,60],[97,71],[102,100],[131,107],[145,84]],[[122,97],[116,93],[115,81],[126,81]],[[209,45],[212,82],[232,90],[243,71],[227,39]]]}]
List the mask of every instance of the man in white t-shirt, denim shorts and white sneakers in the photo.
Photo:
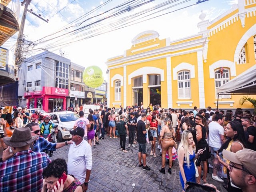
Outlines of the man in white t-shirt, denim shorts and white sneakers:
[{"label": "man in white t-shirt, denim shorts and white sneakers", "polygon": [[212,178],[219,182],[224,182],[218,175],[219,162],[216,158],[216,151],[218,151],[221,145],[225,142],[224,128],[222,127],[224,117],[222,114],[216,114],[214,120],[209,124],[209,146],[211,154],[214,155],[213,160],[213,174]]}]

